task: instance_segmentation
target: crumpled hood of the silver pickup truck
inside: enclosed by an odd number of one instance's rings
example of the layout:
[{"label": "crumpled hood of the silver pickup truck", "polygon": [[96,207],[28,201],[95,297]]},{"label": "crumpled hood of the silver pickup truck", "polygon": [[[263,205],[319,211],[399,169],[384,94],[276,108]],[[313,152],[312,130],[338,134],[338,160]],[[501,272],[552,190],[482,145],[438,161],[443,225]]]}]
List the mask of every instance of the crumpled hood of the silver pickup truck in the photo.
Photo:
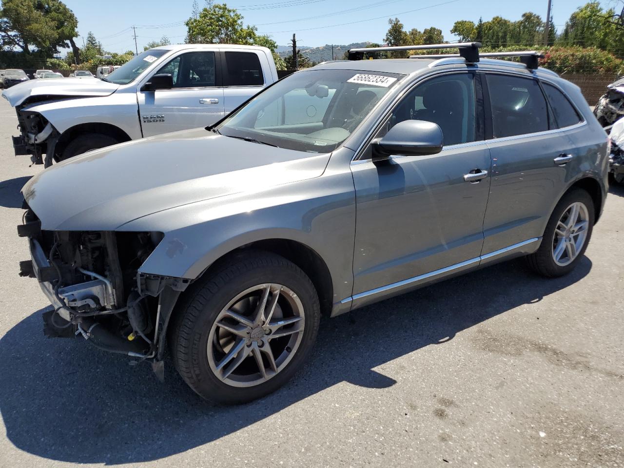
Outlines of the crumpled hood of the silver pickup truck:
[{"label": "crumpled hood of the silver pickup truck", "polygon": [[95,97],[113,94],[118,84],[102,80],[84,80],[80,78],[64,78],[47,80],[37,78],[16,84],[2,91],[2,95],[13,107],[23,104],[31,97]]}]

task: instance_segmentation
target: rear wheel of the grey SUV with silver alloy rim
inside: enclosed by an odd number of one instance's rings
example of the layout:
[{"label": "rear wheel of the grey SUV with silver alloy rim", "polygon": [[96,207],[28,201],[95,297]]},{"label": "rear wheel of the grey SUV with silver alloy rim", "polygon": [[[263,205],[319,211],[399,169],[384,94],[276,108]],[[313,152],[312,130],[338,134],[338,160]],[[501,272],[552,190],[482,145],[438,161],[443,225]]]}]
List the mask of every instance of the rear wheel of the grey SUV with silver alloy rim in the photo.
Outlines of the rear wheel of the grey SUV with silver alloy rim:
[{"label": "rear wheel of the grey SUV with silver alloy rim", "polygon": [[593,200],[585,190],[564,195],[548,220],[540,248],[527,257],[529,266],[548,278],[570,273],[587,249],[594,220]]}]

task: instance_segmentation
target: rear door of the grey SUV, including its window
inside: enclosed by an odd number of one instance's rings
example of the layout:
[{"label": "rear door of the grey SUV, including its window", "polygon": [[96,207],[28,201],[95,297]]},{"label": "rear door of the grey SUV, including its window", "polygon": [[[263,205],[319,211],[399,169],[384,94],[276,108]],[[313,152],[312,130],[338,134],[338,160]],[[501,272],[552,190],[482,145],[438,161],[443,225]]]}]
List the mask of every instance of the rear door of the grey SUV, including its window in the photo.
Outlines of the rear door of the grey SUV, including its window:
[{"label": "rear door of the grey SUV, including its window", "polygon": [[[483,253],[535,246],[575,167],[577,150],[534,77],[487,73],[492,183]],[[486,99],[487,102],[488,99]]]}]

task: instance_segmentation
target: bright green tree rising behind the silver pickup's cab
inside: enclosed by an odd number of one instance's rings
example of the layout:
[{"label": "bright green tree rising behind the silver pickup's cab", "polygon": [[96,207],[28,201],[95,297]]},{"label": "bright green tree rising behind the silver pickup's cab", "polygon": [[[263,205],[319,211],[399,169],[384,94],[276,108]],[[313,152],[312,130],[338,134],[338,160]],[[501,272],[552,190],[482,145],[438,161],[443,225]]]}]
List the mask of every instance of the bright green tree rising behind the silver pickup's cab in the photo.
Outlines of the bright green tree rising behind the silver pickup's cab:
[{"label": "bright green tree rising behind the silver pickup's cab", "polygon": [[277,44],[268,36],[257,33],[255,26],[244,25],[243,15],[227,4],[212,4],[199,12],[197,18],[190,17],[186,22],[187,42],[217,44],[249,44],[264,46],[275,52]]}]

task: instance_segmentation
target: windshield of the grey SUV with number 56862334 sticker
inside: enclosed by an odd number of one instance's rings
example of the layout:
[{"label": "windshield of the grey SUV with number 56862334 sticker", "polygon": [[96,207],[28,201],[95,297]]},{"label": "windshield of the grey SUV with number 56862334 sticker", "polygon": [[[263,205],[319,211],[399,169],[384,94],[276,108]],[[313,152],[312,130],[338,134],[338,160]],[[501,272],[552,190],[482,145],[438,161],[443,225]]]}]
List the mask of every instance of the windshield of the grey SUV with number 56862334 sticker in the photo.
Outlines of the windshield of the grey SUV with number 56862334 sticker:
[{"label": "windshield of the grey SUV with number 56862334 sticker", "polygon": [[353,70],[299,72],[261,92],[215,128],[228,137],[330,152],[401,77]]}]

